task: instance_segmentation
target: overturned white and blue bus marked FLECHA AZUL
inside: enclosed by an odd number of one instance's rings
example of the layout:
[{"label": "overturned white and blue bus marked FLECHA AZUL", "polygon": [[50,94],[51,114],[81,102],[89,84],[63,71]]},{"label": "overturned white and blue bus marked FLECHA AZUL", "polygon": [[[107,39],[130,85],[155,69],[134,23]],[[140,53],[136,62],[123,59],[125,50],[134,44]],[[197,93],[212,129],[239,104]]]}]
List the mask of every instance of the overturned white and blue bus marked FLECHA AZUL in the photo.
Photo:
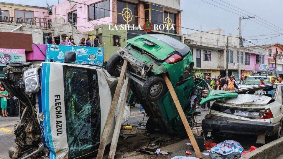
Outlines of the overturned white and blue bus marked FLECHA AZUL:
[{"label": "overturned white and blue bus marked FLECHA AZUL", "polygon": [[97,152],[118,78],[102,67],[58,62],[5,68],[2,85],[21,102],[11,158],[78,158]]}]

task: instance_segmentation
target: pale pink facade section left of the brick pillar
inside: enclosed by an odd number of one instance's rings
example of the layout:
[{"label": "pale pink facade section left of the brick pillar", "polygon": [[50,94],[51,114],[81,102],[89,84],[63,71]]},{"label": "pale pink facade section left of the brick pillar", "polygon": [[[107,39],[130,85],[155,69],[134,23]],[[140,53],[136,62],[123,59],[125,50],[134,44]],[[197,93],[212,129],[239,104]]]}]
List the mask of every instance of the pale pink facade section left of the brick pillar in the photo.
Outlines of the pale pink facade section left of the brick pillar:
[{"label": "pale pink facade section left of the brick pillar", "polygon": [[[52,6],[52,15],[50,15],[50,19],[52,19],[52,22],[54,23],[62,24],[69,22],[80,32],[92,31],[94,30],[94,27],[101,24],[112,24],[112,13],[110,13],[110,11],[112,11],[112,0],[100,1],[101,0],[91,0],[83,2],[75,0],[76,3],[63,1],[56,6]],[[95,4],[98,5],[95,6]],[[99,7],[99,5],[101,9],[96,8]],[[98,15],[98,17],[101,18],[96,20],[94,15],[95,9],[101,10],[99,12],[101,15]]]}]

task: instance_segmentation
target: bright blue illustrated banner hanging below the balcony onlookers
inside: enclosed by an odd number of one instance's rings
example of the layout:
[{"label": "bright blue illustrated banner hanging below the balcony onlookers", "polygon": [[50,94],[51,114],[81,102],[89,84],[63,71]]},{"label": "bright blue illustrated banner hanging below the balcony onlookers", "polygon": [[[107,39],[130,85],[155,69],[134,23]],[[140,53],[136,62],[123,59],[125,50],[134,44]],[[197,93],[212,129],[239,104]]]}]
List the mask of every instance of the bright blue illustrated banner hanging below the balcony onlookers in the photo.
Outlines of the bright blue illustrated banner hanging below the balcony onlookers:
[{"label": "bright blue illustrated banner hanging below the balcony onlookers", "polygon": [[76,52],[76,64],[95,64],[102,66],[103,64],[103,48],[102,47],[80,47],[66,45],[49,44],[46,48],[45,61],[51,59],[55,62],[64,62],[65,52]]}]

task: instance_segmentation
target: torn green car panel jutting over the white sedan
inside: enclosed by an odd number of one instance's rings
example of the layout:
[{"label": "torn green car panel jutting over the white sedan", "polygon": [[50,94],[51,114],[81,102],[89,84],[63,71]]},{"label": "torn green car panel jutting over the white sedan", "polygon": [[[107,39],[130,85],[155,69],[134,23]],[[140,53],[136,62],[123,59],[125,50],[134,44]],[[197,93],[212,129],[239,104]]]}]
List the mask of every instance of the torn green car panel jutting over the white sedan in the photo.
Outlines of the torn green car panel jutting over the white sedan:
[{"label": "torn green car panel jutting over the white sedan", "polygon": [[223,101],[225,98],[236,98],[238,97],[238,93],[234,93],[231,91],[222,91],[222,90],[211,90],[206,98],[200,102],[200,105],[203,105],[206,102],[210,102],[213,100],[222,99]]}]

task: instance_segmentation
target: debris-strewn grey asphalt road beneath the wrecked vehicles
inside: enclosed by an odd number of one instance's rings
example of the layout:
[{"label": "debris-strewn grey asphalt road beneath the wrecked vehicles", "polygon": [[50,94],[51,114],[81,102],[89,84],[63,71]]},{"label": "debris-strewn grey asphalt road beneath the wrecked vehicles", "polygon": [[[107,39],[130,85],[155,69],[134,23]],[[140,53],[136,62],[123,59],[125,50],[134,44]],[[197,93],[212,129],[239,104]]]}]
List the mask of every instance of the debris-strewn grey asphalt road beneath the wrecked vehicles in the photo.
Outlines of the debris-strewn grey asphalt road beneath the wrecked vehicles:
[{"label": "debris-strewn grey asphalt road beneath the wrecked vehicles", "polygon": [[[212,104],[212,103],[211,103]],[[127,158],[127,159],[144,159],[144,158],[172,158],[177,155],[189,156],[186,155],[185,152],[187,150],[192,152],[192,157],[196,157],[192,148],[185,143],[190,142],[187,138],[178,138],[176,136],[168,135],[158,130],[155,133],[148,133],[146,130],[138,129],[142,126],[142,121],[144,120],[144,125],[146,125],[147,117],[139,114],[139,105],[137,107],[131,108],[131,117],[130,119],[124,123],[123,125],[132,125],[133,130],[125,130],[121,131],[124,134],[134,134],[137,133],[135,137],[128,138],[123,140],[119,138],[116,155],[115,158]],[[201,129],[201,121],[204,119],[205,115],[209,113],[209,110],[201,110],[201,115],[197,116],[197,124],[193,128],[193,133],[195,135],[200,135]],[[14,130],[14,124],[19,120],[19,117],[0,117],[0,129],[2,127]],[[5,129],[5,130],[6,130]],[[8,131],[8,130],[6,130]],[[8,149],[9,147],[16,145],[14,143],[14,134],[13,132],[9,133],[3,130],[0,130],[0,159],[9,158]],[[156,155],[148,155],[139,152],[137,149],[148,142],[148,138],[153,137],[162,137],[162,138],[170,138],[170,141],[162,142],[160,144],[161,150],[165,150],[169,152],[167,156],[156,156]],[[220,143],[226,139],[238,141],[245,150],[249,150],[251,145],[256,147],[260,147],[261,145],[256,144],[256,136],[248,136],[248,135],[231,135],[227,138],[223,138],[221,140],[212,140],[210,142]],[[109,147],[106,147],[103,158],[108,158]],[[204,151],[202,153],[208,153]],[[95,157],[93,157],[95,158]],[[203,155],[203,159],[209,159],[210,156]]]}]

